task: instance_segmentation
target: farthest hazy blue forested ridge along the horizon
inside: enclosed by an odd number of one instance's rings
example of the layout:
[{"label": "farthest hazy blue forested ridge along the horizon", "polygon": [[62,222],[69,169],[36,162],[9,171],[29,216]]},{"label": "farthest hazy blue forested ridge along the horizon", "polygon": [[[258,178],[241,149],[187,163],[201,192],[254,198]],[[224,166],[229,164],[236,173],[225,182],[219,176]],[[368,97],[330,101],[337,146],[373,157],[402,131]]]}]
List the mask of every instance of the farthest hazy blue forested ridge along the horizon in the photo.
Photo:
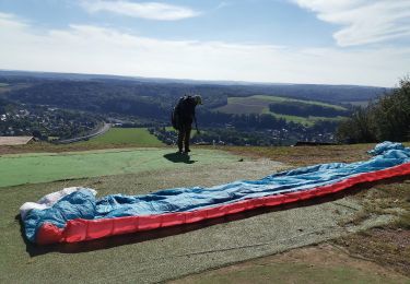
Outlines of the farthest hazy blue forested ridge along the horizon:
[{"label": "farthest hazy blue forested ridge along the horizon", "polygon": [[[256,94],[332,103],[368,102],[388,91],[386,87],[358,85],[260,84],[1,70],[0,83],[30,85],[27,91],[34,93],[34,96],[27,96],[27,92],[13,92],[10,96],[21,100],[28,99],[32,103],[37,100],[46,103],[51,99],[50,102],[57,104],[56,97],[63,96],[67,100],[68,97],[83,91],[93,95],[91,99],[94,99],[94,95],[105,99],[106,95],[114,93],[116,97],[122,95],[127,97],[160,97],[166,99],[166,103],[173,104],[176,98],[186,93],[200,93],[204,96],[209,107],[215,107],[214,104],[223,103],[226,97]],[[58,84],[63,85],[59,87]],[[34,88],[30,90],[32,87]],[[101,103],[104,103],[104,99]]]}]

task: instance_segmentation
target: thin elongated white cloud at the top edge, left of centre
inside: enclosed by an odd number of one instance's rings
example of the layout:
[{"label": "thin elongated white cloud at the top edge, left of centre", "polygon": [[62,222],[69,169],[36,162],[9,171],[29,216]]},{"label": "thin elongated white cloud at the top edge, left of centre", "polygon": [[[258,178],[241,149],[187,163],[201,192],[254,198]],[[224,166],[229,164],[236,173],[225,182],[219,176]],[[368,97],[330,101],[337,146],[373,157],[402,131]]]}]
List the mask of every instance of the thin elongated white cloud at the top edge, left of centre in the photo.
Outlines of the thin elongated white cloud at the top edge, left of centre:
[{"label": "thin elongated white cloud at the top edge, left of centre", "polygon": [[80,4],[90,13],[112,12],[116,14],[159,21],[177,21],[198,16],[200,13],[186,7],[159,2],[130,2],[108,0],[81,0]]}]

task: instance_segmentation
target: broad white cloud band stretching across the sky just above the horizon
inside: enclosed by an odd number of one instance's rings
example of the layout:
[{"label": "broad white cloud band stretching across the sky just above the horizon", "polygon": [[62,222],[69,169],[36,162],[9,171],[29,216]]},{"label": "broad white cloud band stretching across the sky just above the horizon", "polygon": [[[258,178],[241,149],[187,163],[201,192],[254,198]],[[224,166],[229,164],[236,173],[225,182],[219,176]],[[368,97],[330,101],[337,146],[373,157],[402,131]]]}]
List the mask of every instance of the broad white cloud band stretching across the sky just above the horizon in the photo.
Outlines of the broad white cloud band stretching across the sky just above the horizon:
[{"label": "broad white cloud band stretching across the sky just above the horizon", "polygon": [[71,25],[39,32],[0,14],[0,69],[393,86],[409,72],[410,50],[292,49],[222,42],[162,40]]}]

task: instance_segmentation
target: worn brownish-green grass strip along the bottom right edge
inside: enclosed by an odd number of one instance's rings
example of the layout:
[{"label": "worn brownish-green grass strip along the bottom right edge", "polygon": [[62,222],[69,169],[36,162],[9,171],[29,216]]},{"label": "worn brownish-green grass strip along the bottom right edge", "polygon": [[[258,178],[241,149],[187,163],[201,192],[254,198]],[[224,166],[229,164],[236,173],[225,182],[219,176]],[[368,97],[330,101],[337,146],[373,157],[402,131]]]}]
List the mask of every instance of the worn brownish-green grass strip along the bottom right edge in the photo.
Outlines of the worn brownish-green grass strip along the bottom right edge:
[{"label": "worn brownish-green grass strip along the bottom right edge", "polygon": [[[372,269],[354,268],[352,263],[339,265],[313,264],[308,259],[303,262],[277,261],[270,263],[238,264],[231,269],[220,269],[188,276],[173,284],[213,284],[213,283],[406,283],[403,276],[382,275]],[[259,261],[260,262],[260,261]],[[354,261],[351,261],[354,263]],[[251,280],[251,281],[249,281]]]}]

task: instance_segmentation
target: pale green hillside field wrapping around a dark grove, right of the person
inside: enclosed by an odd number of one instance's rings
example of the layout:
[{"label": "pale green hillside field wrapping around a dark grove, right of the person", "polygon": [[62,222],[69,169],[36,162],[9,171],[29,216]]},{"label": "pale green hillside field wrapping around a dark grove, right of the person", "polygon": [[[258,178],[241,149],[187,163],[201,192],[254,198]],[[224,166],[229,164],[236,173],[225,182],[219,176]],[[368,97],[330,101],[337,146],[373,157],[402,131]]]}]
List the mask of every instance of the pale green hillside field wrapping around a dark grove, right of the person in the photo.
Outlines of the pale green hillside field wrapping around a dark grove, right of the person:
[{"label": "pale green hillside field wrapping around a dark grove, right of the person", "polygon": [[335,110],[345,110],[345,108],[341,106],[331,105],[331,104],[321,103],[321,102],[302,100],[302,99],[295,99],[295,98],[286,98],[286,97],[280,97],[280,96],[265,96],[265,95],[255,95],[255,96],[248,96],[248,97],[229,97],[227,105],[215,108],[214,110],[225,113],[225,114],[233,114],[233,115],[268,114],[268,115],[273,115],[277,118],[283,118],[288,121],[293,121],[293,122],[304,123],[304,125],[313,125],[317,120],[341,119],[341,117],[326,118],[326,117],[309,116],[308,118],[306,118],[306,117],[274,114],[269,110],[269,104],[274,103],[274,102],[298,102],[298,103],[318,105],[323,107],[331,107]]}]

